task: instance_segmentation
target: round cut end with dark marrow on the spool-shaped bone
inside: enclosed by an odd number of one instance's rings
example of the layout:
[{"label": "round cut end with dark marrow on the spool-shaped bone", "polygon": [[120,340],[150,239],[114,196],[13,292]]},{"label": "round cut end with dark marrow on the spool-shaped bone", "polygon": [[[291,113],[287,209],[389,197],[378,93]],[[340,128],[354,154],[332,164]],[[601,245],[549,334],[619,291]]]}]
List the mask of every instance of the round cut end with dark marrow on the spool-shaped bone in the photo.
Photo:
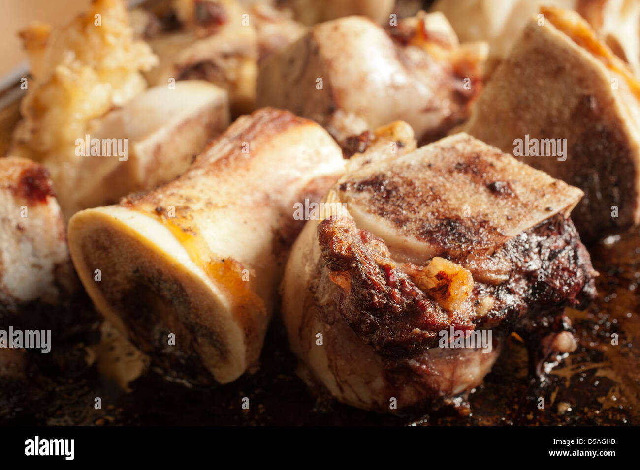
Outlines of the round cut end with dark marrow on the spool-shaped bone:
[{"label": "round cut end with dark marrow on the spool-shaped bone", "polygon": [[77,213],[68,230],[70,252],[88,294],[109,322],[136,338],[143,352],[163,352],[168,368],[182,368],[197,380],[206,380],[203,364],[223,384],[257,361],[261,344],[246,343],[241,320],[157,219],[103,207]]}]

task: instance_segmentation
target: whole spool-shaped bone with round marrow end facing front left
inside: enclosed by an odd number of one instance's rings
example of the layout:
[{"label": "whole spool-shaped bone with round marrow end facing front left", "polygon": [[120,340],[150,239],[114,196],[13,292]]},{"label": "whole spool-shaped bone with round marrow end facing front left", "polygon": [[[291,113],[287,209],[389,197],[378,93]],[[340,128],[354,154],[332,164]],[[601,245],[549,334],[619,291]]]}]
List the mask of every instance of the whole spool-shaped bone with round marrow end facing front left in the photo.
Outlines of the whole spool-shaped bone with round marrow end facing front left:
[{"label": "whole spool-shaped bone with round marrow end facing front left", "polygon": [[143,352],[165,370],[198,363],[191,375],[230,382],[257,364],[301,225],[294,201],[319,201],[343,170],[319,125],[261,109],[177,180],[76,214],[70,251],[97,308]]}]

